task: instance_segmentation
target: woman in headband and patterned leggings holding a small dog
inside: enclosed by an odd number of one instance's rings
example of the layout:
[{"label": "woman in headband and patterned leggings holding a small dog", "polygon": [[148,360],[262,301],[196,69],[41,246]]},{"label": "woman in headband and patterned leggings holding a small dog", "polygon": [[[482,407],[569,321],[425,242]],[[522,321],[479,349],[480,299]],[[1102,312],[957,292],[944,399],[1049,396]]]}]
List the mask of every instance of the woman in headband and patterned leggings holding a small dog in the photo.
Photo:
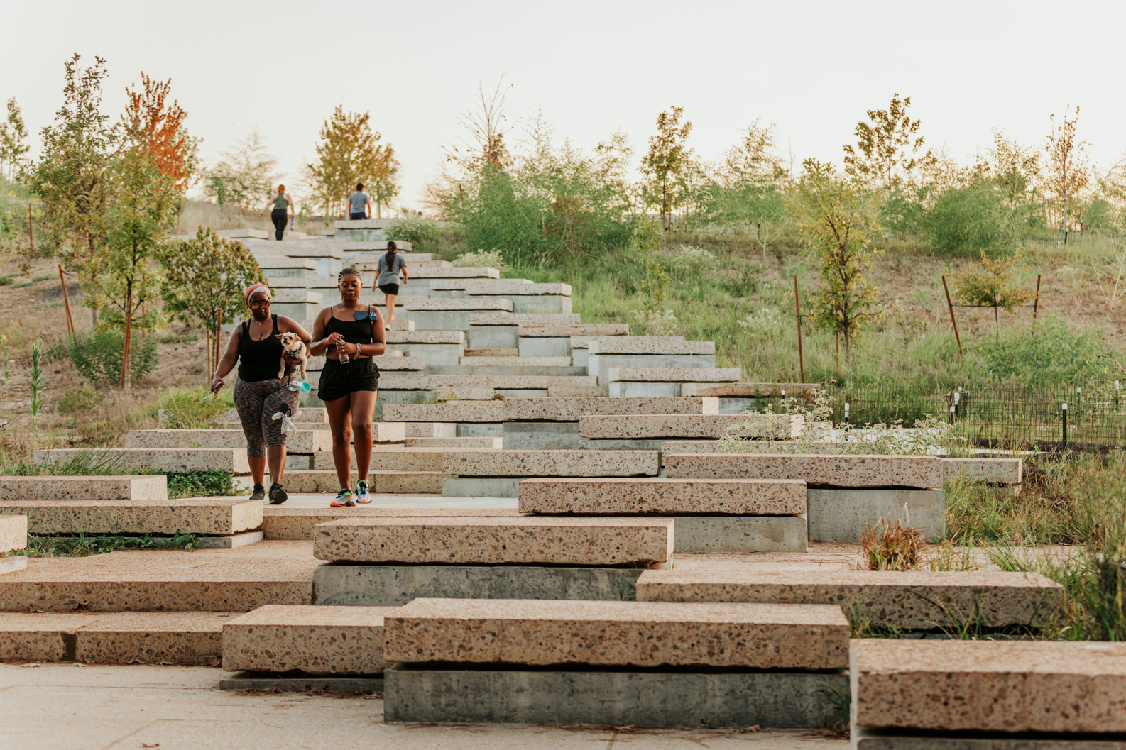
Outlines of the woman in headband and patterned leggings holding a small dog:
[{"label": "woman in headband and patterned leggings holding a small dog", "polygon": [[[251,284],[244,296],[247,306],[250,307],[250,319],[231,332],[226,351],[215,367],[212,393],[218,393],[223,387],[223,378],[238,360],[239,378],[234,382],[233,398],[242,431],[247,436],[247,461],[254,480],[250,499],[262,500],[266,497],[263,481],[266,465],[269,464],[270,505],[277,506],[288,497],[282,488],[286,434],[282,431],[282,420],[272,417],[278,412],[296,413],[301,398],[300,392],[289,390],[289,383],[294,380],[294,365],[300,365],[301,359],[291,357],[283,350],[282,334],[294,333],[301,339],[306,356],[312,338],[295,320],[270,314],[270,291],[265,284]],[[278,377],[283,363],[285,373]]]}]

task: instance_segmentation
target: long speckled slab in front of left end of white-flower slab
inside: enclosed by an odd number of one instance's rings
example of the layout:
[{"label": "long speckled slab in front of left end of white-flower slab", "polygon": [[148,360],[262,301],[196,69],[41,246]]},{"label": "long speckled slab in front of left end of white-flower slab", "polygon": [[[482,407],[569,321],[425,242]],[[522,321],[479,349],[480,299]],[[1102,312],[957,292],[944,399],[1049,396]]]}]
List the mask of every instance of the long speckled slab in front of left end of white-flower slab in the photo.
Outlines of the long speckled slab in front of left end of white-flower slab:
[{"label": "long speckled slab in front of left end of white-flower slab", "polygon": [[792,516],[805,512],[801,480],[527,479],[529,514],[705,514]]}]

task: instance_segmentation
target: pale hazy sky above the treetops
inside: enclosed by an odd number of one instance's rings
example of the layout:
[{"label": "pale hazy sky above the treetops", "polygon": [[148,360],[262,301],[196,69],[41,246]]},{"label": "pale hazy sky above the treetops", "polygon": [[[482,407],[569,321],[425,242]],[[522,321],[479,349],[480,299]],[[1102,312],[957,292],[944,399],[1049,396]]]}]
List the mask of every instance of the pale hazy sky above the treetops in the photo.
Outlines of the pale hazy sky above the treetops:
[{"label": "pale hazy sky above the treetops", "polygon": [[584,148],[622,128],[641,150],[656,113],[679,105],[704,158],[761,117],[798,160],[840,163],[865,110],[899,92],[929,143],[959,159],[992,127],[1042,142],[1069,104],[1098,162],[1126,150],[1121,2],[56,0],[14,2],[3,18],[0,97],[34,131],[61,102],[63,61],[100,55],[106,111],[141,71],[171,78],[205,159],[257,125],[291,179],[333,107],[370,110],[408,203],[479,82],[501,74],[511,117],[543,107]]}]

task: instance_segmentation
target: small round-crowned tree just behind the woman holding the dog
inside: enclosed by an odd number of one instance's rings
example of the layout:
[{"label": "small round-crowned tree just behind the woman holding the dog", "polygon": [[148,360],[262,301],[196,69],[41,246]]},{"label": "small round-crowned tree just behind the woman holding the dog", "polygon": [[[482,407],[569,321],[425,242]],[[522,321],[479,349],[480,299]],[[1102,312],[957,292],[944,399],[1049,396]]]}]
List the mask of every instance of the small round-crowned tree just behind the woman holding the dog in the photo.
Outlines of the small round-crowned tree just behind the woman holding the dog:
[{"label": "small round-crowned tree just behind the woman holding the dog", "polygon": [[218,313],[226,322],[235,321],[244,310],[243,289],[266,284],[266,277],[245,245],[218,236],[209,226],[200,226],[193,240],[168,244],[161,264],[164,312],[194,321],[206,331],[209,383],[214,370],[211,342],[220,333]]}]

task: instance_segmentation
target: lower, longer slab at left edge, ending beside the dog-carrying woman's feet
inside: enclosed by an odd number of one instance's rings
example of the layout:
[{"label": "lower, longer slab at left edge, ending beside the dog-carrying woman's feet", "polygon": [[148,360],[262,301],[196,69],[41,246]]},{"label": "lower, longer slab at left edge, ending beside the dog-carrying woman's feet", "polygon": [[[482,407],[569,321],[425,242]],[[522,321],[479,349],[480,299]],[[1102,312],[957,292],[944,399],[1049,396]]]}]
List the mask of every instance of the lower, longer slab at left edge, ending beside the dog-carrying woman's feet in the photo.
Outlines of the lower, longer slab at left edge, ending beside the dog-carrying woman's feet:
[{"label": "lower, longer slab at left edge, ending beside the dog-carrying woman's feet", "polygon": [[[0,523],[30,514],[33,534],[230,535],[262,525],[262,503],[245,498],[178,500],[0,500]],[[26,523],[26,521],[25,521]]]}]

